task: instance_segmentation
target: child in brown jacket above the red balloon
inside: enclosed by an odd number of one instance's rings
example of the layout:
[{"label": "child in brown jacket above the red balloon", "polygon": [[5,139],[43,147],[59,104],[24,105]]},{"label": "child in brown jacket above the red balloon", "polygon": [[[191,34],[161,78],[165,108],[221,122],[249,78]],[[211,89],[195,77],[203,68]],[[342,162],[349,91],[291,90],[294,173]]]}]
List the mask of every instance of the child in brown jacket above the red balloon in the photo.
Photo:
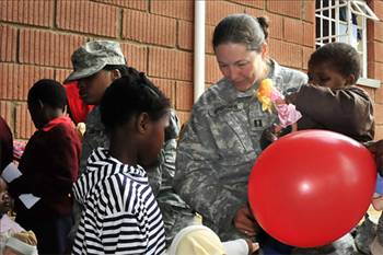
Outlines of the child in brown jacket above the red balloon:
[{"label": "child in brown jacket above the red balloon", "polygon": [[309,85],[302,85],[287,102],[302,113],[298,130],[327,129],[357,141],[374,136],[373,105],[356,83],[360,76],[357,50],[344,43],[330,43],[309,60]]}]

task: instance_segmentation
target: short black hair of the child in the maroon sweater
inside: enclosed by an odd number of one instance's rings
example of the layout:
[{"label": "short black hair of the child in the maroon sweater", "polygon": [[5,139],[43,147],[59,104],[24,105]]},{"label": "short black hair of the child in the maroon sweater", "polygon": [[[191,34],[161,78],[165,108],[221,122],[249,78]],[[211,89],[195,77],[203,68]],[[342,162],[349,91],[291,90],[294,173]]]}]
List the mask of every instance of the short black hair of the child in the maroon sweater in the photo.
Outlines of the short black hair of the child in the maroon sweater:
[{"label": "short black hair of the child in the maroon sweater", "polygon": [[53,108],[63,109],[67,105],[67,94],[65,88],[58,81],[42,79],[30,89],[27,101],[30,103],[40,101]]}]

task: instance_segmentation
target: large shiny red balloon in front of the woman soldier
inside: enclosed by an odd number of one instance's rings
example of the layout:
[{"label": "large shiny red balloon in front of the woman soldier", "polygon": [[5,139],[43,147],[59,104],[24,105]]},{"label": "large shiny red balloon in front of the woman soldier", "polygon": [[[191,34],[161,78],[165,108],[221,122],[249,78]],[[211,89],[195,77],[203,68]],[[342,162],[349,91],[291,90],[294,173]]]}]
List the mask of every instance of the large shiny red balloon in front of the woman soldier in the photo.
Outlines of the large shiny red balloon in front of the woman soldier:
[{"label": "large shiny red balloon in front of the woman soldier", "polygon": [[248,201],[263,229],[298,247],[328,244],[368,210],[376,181],[372,154],[325,130],[285,136],[256,160]]}]

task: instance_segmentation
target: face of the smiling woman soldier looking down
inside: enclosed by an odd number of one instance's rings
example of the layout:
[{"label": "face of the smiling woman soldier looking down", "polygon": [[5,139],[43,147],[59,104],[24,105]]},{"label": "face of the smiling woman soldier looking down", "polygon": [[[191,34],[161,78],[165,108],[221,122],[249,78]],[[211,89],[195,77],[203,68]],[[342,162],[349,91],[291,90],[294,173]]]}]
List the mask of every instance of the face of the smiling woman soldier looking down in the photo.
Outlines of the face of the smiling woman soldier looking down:
[{"label": "face of the smiling woman soldier looking down", "polygon": [[214,51],[222,74],[237,91],[248,90],[255,81],[263,78],[264,53],[247,50],[244,44],[235,43],[221,44]]}]

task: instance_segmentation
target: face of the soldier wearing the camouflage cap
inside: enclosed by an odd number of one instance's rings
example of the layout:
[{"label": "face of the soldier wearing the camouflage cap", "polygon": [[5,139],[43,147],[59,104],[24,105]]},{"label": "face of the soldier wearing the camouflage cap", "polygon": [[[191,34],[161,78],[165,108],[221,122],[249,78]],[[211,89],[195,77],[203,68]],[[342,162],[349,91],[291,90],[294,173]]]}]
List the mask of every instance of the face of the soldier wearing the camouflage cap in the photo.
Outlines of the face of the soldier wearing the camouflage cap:
[{"label": "face of the soldier wearing the camouflage cap", "polygon": [[80,97],[85,104],[98,105],[106,88],[113,82],[111,71],[101,70],[79,81]]}]

